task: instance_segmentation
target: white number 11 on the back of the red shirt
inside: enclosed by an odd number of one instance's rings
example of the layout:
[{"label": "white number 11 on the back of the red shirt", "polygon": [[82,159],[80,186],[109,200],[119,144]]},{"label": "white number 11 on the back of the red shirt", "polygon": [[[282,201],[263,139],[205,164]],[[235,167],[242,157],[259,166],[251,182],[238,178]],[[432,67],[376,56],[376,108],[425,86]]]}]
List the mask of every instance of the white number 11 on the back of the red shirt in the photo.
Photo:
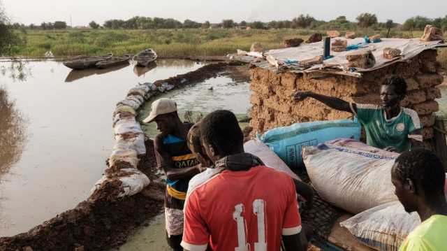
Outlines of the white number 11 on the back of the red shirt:
[{"label": "white number 11 on the back of the red shirt", "polygon": [[[245,220],[242,216],[244,212],[244,205],[239,203],[235,206],[233,212],[233,219],[237,224],[237,247],[235,251],[249,251],[249,243],[246,243],[246,229]],[[267,243],[265,243],[265,201],[256,199],[253,201],[253,213],[258,219],[258,242],[254,243],[254,251],[267,250]]]}]

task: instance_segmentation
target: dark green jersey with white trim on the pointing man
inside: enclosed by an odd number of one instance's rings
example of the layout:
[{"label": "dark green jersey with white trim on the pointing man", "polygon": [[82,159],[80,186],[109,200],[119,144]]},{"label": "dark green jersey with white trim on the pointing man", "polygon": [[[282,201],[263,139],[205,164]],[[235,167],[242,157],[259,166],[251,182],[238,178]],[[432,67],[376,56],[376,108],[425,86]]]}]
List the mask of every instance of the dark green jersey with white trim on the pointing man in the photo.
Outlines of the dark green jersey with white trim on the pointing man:
[{"label": "dark green jersey with white trim on the pointing man", "polygon": [[418,113],[409,108],[401,108],[399,115],[389,120],[382,106],[356,103],[351,110],[366,132],[367,144],[375,148],[393,146],[398,152],[411,149],[410,138],[423,141],[422,135],[416,135],[420,129]]}]

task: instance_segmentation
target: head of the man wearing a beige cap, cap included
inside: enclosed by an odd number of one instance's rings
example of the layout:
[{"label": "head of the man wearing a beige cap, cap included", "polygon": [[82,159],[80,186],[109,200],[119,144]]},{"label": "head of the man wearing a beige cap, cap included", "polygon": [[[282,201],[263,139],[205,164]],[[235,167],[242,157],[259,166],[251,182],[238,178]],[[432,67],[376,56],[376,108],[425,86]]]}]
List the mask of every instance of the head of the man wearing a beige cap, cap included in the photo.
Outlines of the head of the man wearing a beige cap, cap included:
[{"label": "head of the man wearing a beige cap, cap included", "polygon": [[145,123],[156,122],[156,129],[162,134],[172,134],[179,121],[177,104],[170,99],[157,99],[152,103],[151,113],[143,120]]}]

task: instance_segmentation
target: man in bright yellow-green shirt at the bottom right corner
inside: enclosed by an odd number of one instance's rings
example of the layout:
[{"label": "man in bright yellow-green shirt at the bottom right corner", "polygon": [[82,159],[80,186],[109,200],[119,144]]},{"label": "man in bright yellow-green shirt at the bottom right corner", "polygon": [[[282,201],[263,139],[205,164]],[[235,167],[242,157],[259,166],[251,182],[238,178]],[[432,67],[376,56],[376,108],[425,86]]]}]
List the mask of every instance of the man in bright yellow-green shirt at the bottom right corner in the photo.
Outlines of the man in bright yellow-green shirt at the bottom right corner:
[{"label": "man in bright yellow-green shirt at the bottom right corner", "polygon": [[404,152],[391,169],[391,181],[406,212],[418,212],[422,222],[399,250],[447,250],[446,174],[439,158],[425,149]]}]

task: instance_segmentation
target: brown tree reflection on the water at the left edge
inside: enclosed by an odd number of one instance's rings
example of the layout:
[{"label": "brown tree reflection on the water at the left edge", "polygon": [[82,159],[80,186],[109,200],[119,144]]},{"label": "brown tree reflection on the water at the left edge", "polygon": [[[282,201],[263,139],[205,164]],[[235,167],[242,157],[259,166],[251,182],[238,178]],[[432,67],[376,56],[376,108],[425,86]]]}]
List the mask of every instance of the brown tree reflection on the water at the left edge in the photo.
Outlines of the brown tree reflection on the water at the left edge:
[{"label": "brown tree reflection on the water at the left edge", "polygon": [[22,155],[26,137],[27,120],[8,97],[6,89],[0,87],[0,182]]}]

